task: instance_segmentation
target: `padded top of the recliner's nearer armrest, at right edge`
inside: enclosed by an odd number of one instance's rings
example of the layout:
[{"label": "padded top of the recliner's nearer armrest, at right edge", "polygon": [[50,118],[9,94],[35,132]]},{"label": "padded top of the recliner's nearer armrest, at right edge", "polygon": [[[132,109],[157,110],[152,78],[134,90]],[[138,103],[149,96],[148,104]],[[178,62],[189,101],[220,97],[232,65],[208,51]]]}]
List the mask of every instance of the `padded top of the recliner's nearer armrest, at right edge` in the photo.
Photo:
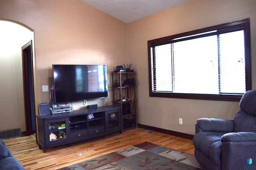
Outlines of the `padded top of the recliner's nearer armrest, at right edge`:
[{"label": "padded top of the recliner's nearer armrest, at right edge", "polygon": [[256,141],[256,133],[254,133],[254,132],[226,133],[221,137],[220,140],[222,142]]}]

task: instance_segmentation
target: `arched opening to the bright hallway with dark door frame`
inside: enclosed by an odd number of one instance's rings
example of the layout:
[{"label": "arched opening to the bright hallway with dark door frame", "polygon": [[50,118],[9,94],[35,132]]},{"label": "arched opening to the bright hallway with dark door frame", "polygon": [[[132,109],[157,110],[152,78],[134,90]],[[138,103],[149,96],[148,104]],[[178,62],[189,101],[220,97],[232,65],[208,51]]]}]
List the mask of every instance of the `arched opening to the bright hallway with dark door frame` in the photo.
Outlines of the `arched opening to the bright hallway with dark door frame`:
[{"label": "arched opening to the bright hallway with dark door frame", "polygon": [[[0,37],[0,78],[2,79],[0,83],[2,89],[0,129],[20,128],[22,135],[31,135],[36,131],[35,101],[32,97],[34,107],[30,107],[29,110],[25,109],[31,105],[31,96],[24,95],[28,89],[23,82],[30,81],[30,84],[32,83],[34,86],[35,80],[33,80],[34,73],[31,74],[32,79],[24,79],[23,73],[28,70],[34,72],[34,66],[33,61],[29,62],[28,58],[24,59],[24,61],[28,61],[27,64],[22,64],[24,63],[22,61],[22,46],[28,42],[34,44],[34,31],[14,21],[0,20]],[[34,45],[32,45],[33,48]],[[30,56],[30,59],[34,59],[34,54]],[[34,92],[33,86],[29,88]]]}]

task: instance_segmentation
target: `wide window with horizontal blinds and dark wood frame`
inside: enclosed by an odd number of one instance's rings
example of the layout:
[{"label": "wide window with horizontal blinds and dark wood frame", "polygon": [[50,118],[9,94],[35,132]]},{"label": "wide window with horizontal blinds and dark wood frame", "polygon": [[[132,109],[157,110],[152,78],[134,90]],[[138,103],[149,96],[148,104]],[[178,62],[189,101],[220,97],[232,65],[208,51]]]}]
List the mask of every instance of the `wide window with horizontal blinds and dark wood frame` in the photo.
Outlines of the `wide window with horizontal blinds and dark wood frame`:
[{"label": "wide window with horizontal blinds and dark wood frame", "polygon": [[251,90],[250,20],[148,41],[150,96],[240,101]]}]

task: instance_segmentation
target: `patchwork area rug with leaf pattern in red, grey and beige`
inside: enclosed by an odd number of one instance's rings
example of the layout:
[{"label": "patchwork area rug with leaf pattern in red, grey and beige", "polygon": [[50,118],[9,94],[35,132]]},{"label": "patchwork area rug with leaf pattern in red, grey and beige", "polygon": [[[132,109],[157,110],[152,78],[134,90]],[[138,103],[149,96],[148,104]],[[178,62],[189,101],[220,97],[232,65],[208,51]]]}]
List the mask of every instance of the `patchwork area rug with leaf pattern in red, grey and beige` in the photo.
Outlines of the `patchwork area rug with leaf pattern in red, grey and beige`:
[{"label": "patchwork area rug with leaf pattern in red, grey and beige", "polygon": [[192,154],[144,142],[59,170],[201,170]]}]

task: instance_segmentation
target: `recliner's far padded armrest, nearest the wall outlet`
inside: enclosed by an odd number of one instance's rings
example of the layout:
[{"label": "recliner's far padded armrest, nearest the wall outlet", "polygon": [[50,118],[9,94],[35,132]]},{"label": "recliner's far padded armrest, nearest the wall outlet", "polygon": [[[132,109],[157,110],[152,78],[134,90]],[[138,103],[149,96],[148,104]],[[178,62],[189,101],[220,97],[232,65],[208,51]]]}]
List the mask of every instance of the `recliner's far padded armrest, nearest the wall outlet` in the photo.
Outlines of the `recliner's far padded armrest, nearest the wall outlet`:
[{"label": "recliner's far padded armrest, nearest the wall outlet", "polygon": [[[196,131],[234,132],[234,121],[214,118],[197,119]],[[197,133],[197,132],[196,132]]]}]

